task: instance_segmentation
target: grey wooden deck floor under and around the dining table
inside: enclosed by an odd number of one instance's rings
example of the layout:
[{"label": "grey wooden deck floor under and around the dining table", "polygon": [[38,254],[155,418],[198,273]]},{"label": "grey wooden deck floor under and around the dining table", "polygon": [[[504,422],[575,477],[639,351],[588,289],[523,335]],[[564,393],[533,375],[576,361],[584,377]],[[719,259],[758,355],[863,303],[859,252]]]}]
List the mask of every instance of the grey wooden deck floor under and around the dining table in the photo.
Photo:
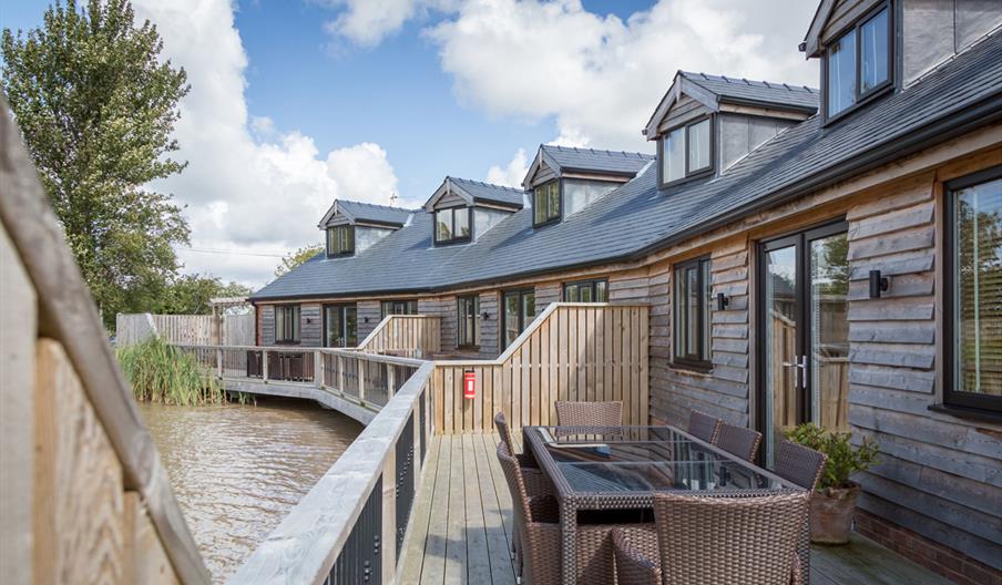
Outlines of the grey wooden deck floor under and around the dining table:
[{"label": "grey wooden deck floor under and around the dining table", "polygon": [[[494,455],[497,434],[436,437],[403,543],[401,584],[514,584],[511,496]],[[866,538],[816,547],[814,585],[947,585]]]}]

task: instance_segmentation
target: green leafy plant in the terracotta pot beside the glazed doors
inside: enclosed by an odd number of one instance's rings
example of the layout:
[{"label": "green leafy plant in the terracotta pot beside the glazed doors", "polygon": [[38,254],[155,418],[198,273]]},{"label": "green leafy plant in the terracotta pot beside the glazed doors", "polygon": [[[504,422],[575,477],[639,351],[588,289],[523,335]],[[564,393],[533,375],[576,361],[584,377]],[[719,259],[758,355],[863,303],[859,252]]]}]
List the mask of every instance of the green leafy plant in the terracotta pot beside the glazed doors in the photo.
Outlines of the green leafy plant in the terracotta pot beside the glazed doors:
[{"label": "green leafy plant in the terracotta pot beside the glazed doors", "polygon": [[865,471],[877,461],[880,452],[877,443],[863,438],[855,447],[852,433],[826,431],[812,422],[804,423],[786,432],[786,437],[798,444],[828,455],[828,463],[818,481],[818,491],[845,489],[856,485],[850,475]]}]

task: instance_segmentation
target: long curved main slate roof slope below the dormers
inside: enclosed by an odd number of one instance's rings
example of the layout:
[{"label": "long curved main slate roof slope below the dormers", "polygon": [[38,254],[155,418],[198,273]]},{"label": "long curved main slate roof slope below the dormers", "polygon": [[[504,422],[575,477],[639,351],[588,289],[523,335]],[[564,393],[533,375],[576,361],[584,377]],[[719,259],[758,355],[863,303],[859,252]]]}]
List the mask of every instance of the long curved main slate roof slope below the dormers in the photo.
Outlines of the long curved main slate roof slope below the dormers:
[{"label": "long curved main slate roof slope below the dormers", "polygon": [[[1002,117],[1002,33],[825,126],[819,116],[778,134],[720,176],[657,188],[656,165],[561,223],[533,228],[532,209],[507,217],[476,243],[433,247],[431,219],[349,258],[314,258],[252,295],[307,298],[440,290],[555,269],[642,257],[757,208],[886,164],[950,132]],[[911,151],[909,151],[911,148]],[[826,183],[827,182],[827,183]]]}]

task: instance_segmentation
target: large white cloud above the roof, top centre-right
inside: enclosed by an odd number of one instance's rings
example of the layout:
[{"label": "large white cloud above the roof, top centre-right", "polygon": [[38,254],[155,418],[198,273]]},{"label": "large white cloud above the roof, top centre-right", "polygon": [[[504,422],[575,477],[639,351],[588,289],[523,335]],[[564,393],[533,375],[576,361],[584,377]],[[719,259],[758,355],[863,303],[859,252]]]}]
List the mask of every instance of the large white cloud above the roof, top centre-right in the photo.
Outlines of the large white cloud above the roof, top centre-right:
[{"label": "large white cloud above the roof, top centre-right", "polygon": [[662,0],[626,21],[576,0],[470,0],[426,30],[464,103],[556,121],[560,144],[650,150],[676,70],[817,84],[797,43],[812,2]]}]

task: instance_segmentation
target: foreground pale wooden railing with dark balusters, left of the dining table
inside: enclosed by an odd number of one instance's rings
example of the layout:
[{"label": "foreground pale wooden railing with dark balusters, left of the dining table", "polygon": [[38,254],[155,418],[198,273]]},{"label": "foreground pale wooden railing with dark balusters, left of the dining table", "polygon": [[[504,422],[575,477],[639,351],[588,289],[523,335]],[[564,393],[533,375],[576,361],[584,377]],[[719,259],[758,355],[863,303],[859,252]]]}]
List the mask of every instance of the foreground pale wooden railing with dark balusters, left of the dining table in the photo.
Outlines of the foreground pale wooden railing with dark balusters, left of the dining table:
[{"label": "foreground pale wooden railing with dark balusters, left of the dining table", "polygon": [[433,433],[432,370],[431,362],[417,368],[229,583],[397,581]]}]

